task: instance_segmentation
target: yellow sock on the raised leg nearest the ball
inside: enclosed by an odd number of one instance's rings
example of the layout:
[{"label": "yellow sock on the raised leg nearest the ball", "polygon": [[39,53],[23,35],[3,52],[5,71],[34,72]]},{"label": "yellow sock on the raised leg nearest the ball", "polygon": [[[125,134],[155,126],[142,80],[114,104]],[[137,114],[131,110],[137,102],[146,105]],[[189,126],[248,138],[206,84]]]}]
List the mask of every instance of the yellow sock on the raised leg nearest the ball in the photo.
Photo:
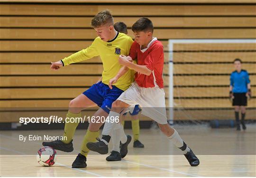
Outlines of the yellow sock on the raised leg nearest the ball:
[{"label": "yellow sock on the raised leg nearest the ball", "polygon": [[[70,111],[68,111],[67,118],[81,118],[81,112],[78,114],[72,113]],[[71,122],[67,122],[65,123],[65,127],[64,127],[64,134],[63,136],[66,136],[66,140],[64,139],[63,142],[65,144],[68,144],[71,142],[71,140],[73,139],[74,136],[74,132],[76,127],[78,126],[79,122],[75,122],[75,123],[71,123]],[[64,137],[65,138],[65,137]]]}]

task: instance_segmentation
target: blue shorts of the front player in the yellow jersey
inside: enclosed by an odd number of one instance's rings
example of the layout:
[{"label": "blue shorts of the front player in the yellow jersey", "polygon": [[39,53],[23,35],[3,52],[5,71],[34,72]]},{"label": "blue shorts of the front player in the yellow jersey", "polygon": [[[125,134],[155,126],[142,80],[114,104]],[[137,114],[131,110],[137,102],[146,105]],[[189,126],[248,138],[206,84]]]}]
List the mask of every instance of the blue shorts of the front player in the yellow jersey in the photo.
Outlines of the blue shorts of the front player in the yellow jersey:
[{"label": "blue shorts of the front player in the yellow jersey", "polygon": [[112,103],[124,92],[114,85],[112,85],[112,87],[113,88],[110,89],[109,85],[98,82],[83,92],[83,94],[101,107],[102,110],[110,113]]}]

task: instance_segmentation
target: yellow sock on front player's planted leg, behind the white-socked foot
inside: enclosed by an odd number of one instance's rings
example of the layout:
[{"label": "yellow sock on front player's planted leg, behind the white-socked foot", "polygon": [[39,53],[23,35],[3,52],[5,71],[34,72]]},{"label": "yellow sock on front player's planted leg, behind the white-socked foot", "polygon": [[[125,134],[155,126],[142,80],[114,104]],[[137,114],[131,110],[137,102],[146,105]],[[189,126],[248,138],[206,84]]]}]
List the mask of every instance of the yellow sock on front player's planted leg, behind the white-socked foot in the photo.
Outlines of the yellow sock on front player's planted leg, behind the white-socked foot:
[{"label": "yellow sock on front player's planted leg, behind the white-socked foot", "polygon": [[97,132],[91,132],[90,130],[87,130],[85,136],[83,137],[80,153],[86,157],[90,152],[86,144],[88,142],[96,142],[97,141],[96,138],[99,136],[100,136],[100,130]]}]

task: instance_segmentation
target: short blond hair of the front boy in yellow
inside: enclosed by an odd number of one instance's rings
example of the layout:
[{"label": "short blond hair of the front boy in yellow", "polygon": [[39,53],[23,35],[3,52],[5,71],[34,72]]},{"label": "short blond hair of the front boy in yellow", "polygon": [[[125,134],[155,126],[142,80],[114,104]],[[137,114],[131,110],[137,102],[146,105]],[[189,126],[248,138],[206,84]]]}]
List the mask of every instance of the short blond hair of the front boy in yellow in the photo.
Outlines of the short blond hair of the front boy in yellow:
[{"label": "short blond hair of the front boy in yellow", "polygon": [[91,26],[93,28],[97,28],[105,24],[114,25],[114,19],[109,10],[99,12],[91,20]]}]

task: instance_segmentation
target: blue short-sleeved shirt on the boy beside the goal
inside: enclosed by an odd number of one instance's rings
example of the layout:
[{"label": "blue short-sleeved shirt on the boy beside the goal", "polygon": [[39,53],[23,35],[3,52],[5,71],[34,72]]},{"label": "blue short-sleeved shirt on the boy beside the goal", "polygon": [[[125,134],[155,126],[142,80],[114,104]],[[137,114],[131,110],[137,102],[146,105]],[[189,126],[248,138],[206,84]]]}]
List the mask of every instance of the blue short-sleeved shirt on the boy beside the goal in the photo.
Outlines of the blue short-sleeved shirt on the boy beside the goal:
[{"label": "blue short-sleeved shirt on the boy beside the goal", "polygon": [[241,70],[239,73],[234,71],[230,75],[230,85],[233,86],[233,93],[247,93],[247,84],[249,83],[249,74],[246,70]]}]

